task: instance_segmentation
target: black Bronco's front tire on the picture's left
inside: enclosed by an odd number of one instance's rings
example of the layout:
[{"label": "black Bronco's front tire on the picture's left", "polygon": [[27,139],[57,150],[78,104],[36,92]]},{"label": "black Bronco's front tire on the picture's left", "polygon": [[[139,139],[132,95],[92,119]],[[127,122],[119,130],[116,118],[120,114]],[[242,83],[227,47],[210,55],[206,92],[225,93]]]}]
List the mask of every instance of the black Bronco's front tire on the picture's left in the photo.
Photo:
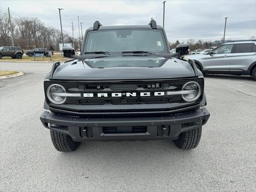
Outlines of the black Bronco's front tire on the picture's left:
[{"label": "black Bronco's front tire on the picture's left", "polygon": [[80,142],[74,142],[69,135],[50,130],[52,144],[56,150],[61,152],[74,151]]}]

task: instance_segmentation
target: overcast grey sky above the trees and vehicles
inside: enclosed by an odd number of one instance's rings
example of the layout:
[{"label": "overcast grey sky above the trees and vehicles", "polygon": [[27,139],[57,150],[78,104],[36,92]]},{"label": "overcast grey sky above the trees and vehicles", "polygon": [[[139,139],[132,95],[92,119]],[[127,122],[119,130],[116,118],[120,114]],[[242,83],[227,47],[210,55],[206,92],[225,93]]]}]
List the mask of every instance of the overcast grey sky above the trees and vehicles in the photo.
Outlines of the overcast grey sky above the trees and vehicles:
[{"label": "overcast grey sky above the trees and vehicles", "polygon": [[[72,35],[69,22],[74,22],[74,36],[78,37],[78,18],[83,33],[99,20],[102,25],[148,24],[153,17],[163,24],[162,0],[0,0],[1,8],[8,8],[25,17],[37,17],[46,26],[62,27]],[[166,0],[165,30],[171,42],[220,40],[224,33],[224,17],[228,17],[226,38],[249,39],[256,36],[256,0]],[[226,39],[225,38],[225,39]]]}]

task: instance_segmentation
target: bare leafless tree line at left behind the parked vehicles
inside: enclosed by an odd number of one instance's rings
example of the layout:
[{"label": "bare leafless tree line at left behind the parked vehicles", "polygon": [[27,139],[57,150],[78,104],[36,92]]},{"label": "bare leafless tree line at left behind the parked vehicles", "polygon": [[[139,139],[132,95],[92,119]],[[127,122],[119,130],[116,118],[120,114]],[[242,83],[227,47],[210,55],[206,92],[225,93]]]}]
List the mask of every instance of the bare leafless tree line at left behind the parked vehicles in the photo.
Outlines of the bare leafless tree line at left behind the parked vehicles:
[{"label": "bare leafless tree line at left behind the parked vehicles", "polygon": [[[58,50],[59,43],[62,43],[61,32],[55,27],[47,27],[38,18],[15,18],[12,17],[12,29],[14,34],[15,46],[23,49],[33,49],[38,47],[47,50]],[[71,42],[69,34],[63,34],[64,42]],[[7,13],[0,14],[0,46],[11,46],[11,28]],[[74,46],[79,47],[79,39],[74,39]]]}]

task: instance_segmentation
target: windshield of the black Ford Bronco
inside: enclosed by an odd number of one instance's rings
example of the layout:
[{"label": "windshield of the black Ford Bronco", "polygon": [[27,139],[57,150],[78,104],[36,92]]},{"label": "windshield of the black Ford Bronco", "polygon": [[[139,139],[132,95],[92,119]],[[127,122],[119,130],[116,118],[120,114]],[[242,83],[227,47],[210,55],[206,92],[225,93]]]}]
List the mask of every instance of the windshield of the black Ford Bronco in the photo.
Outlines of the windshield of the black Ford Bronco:
[{"label": "windshield of the black Ford Bronco", "polygon": [[167,53],[162,30],[98,30],[90,31],[86,36],[84,52],[147,51]]}]

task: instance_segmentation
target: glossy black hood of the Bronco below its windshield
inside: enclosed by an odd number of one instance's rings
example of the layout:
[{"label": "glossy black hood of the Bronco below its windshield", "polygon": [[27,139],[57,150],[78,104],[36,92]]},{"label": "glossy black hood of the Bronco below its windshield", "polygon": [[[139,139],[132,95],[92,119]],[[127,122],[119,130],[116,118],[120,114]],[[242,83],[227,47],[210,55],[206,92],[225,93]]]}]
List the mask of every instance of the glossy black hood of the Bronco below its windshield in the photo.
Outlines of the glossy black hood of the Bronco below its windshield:
[{"label": "glossy black hood of the Bronco below its windshield", "polygon": [[152,56],[71,60],[58,66],[53,80],[138,80],[194,77],[186,61]]}]

